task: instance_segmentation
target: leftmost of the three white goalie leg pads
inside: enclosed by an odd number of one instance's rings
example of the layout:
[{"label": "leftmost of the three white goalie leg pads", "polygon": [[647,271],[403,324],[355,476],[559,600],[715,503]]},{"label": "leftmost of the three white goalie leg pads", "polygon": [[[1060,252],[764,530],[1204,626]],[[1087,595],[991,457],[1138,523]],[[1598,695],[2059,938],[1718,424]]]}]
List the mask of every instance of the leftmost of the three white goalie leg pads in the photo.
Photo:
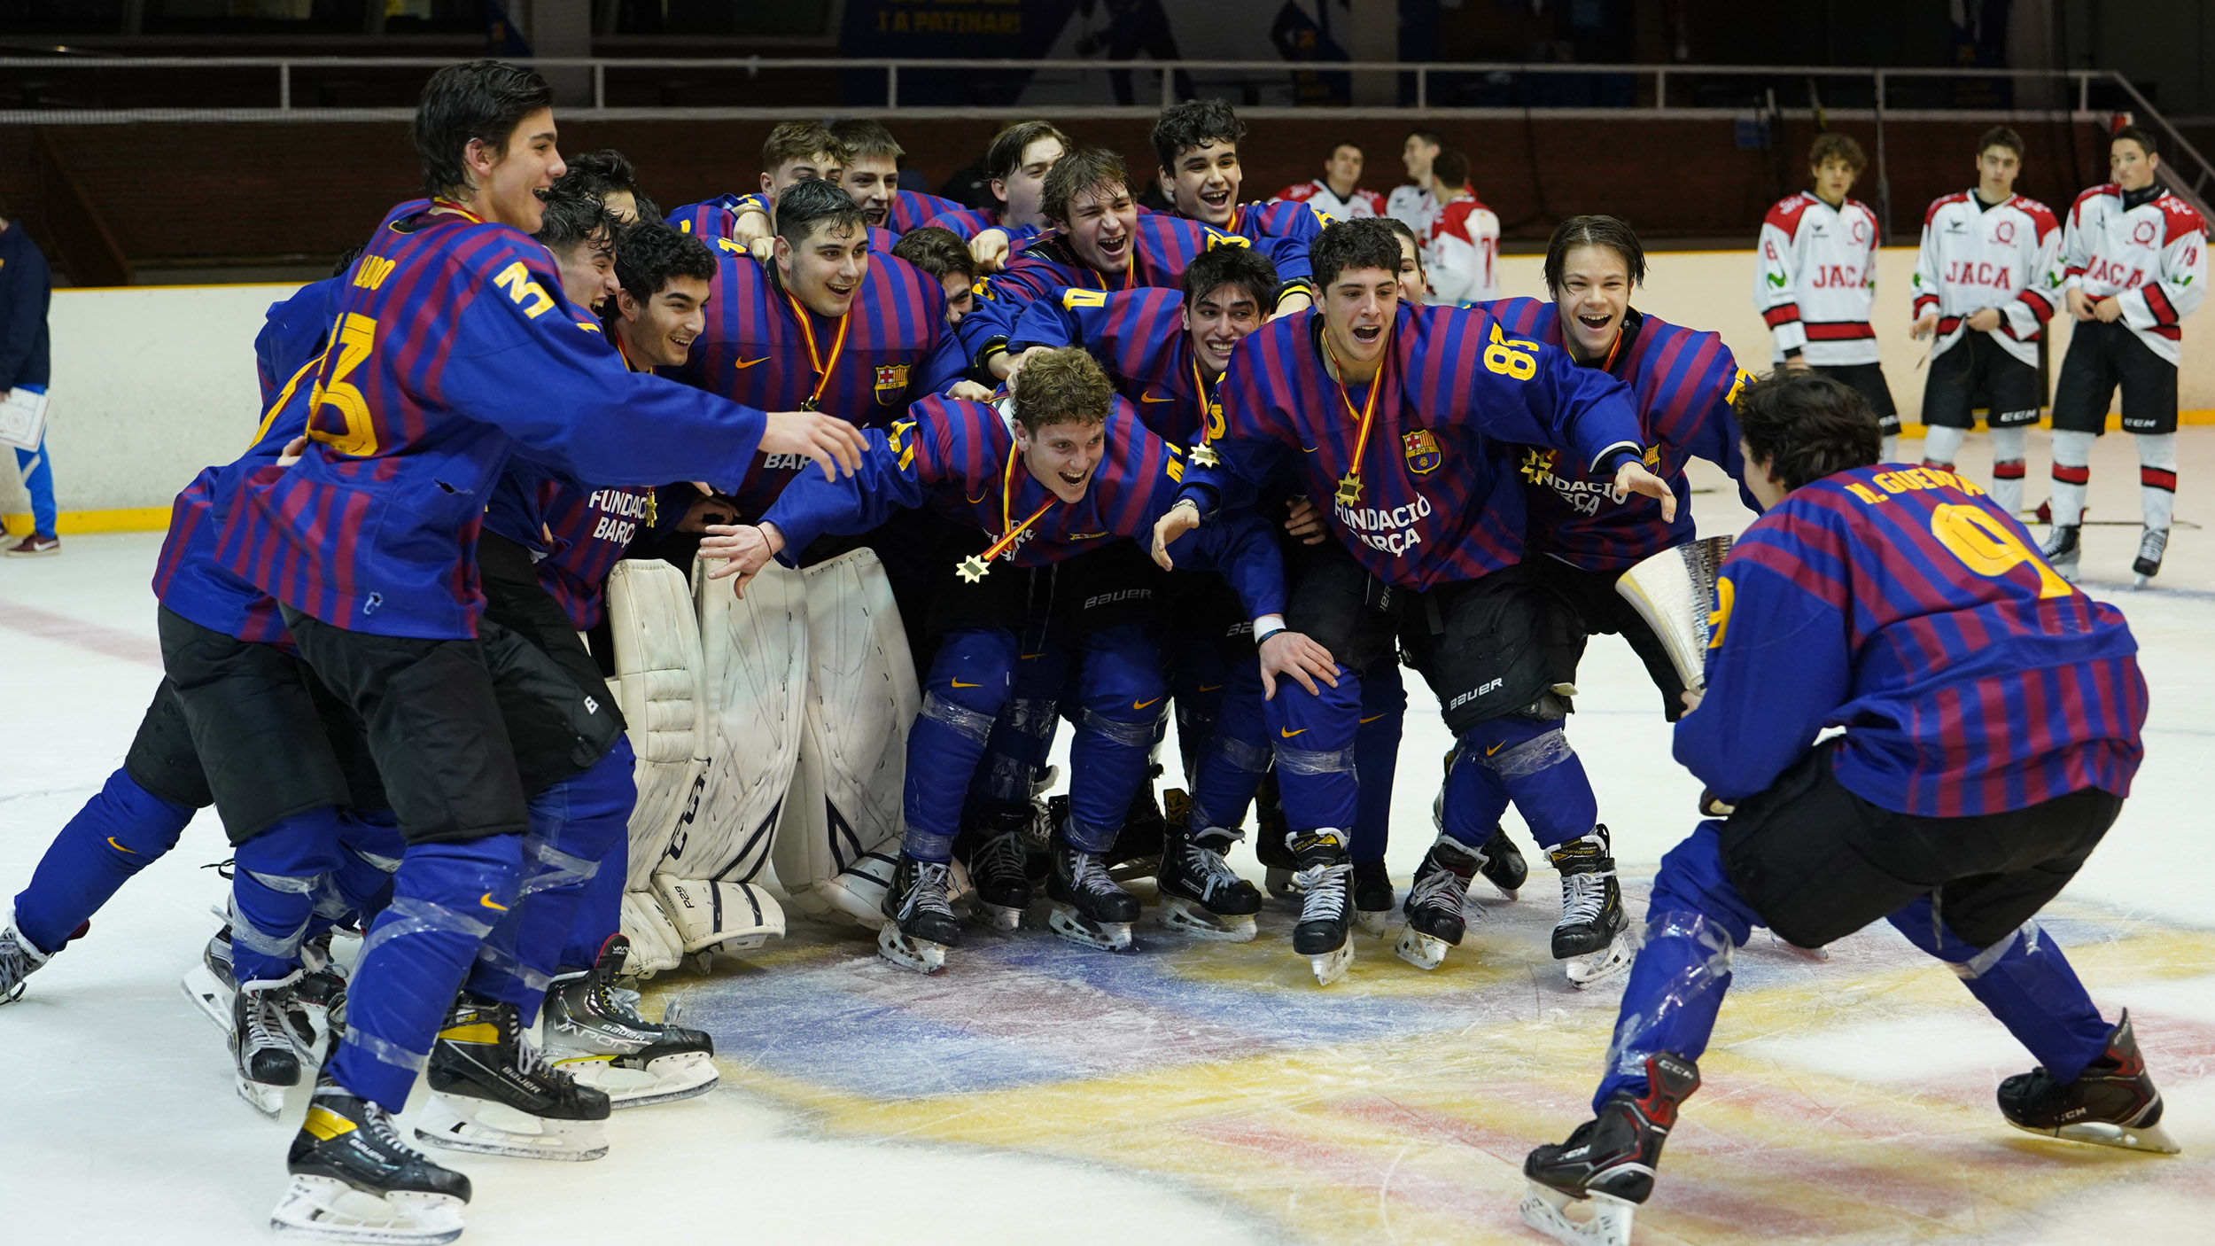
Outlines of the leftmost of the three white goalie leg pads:
[{"label": "leftmost of the three white goalie leg pads", "polygon": [[607,625],[616,650],[616,678],[607,687],[638,754],[625,882],[645,891],[707,765],[700,616],[684,572],[660,559],[616,563],[607,576]]}]

